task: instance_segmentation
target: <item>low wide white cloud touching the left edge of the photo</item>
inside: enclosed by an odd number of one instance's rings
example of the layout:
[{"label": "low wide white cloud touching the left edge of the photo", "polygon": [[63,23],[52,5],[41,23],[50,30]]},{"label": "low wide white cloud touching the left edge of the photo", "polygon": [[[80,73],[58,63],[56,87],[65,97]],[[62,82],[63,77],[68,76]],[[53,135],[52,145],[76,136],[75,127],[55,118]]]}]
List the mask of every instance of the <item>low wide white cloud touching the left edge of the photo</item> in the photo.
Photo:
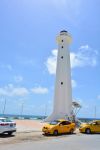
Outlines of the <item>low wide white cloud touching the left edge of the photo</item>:
[{"label": "low wide white cloud touching the left edge of the photo", "polygon": [[25,87],[14,87],[13,84],[0,88],[1,96],[25,96],[29,93]]}]

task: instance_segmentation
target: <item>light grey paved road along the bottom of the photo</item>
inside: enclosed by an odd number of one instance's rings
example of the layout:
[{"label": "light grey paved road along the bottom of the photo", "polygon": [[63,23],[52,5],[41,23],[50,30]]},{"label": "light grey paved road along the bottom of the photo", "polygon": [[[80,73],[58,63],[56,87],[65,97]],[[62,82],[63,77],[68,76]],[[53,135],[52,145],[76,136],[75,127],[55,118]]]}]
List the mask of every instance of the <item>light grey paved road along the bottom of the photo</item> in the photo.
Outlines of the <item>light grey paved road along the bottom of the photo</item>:
[{"label": "light grey paved road along the bottom of the photo", "polygon": [[0,150],[100,150],[100,134],[64,135],[50,140],[0,145]]}]

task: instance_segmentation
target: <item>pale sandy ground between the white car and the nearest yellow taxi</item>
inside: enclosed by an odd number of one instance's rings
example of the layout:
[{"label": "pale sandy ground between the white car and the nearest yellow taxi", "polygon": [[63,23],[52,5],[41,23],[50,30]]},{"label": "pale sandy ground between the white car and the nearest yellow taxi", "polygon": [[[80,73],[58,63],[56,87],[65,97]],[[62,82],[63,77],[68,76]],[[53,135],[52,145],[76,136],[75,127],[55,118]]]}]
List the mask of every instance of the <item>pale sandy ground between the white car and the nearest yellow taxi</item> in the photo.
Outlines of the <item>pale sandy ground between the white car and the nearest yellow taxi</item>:
[{"label": "pale sandy ground between the white car and the nearest yellow taxi", "polygon": [[44,136],[42,134],[42,127],[45,123],[39,120],[15,120],[15,122],[17,125],[17,133],[12,136],[0,135],[0,145],[54,138],[53,136]]}]

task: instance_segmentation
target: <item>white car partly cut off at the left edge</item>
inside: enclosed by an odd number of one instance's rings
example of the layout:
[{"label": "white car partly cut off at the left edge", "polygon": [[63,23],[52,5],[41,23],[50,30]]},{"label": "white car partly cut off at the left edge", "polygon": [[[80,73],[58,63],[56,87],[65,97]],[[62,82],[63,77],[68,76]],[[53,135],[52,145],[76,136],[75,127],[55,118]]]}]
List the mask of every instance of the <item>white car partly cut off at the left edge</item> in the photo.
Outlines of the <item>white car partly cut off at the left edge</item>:
[{"label": "white car partly cut off at the left edge", "polygon": [[0,134],[12,135],[16,132],[16,123],[8,118],[0,118]]}]

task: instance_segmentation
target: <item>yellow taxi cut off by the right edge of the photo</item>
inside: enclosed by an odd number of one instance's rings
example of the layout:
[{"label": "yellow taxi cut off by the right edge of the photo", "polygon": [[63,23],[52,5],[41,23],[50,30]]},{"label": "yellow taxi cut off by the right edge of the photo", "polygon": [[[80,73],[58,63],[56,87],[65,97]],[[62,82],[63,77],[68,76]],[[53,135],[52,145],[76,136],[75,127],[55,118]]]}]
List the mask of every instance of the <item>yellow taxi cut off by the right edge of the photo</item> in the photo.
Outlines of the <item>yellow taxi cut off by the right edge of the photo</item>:
[{"label": "yellow taxi cut off by the right edge of the photo", "polygon": [[79,128],[83,133],[100,133],[100,120],[95,120],[90,123],[82,123]]}]

